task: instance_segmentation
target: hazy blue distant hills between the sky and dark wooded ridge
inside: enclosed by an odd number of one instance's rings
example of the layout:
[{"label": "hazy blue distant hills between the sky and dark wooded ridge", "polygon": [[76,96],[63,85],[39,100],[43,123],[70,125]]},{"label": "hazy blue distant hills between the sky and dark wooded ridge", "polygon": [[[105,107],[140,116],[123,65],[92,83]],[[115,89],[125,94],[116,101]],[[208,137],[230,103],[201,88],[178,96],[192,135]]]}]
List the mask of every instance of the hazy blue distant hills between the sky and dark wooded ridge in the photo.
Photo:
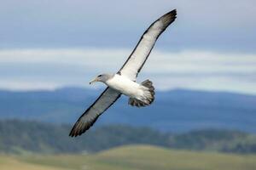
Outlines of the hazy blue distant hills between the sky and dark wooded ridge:
[{"label": "hazy blue distant hills between the sky and dark wooded ridge", "polygon": [[[73,123],[101,90],[0,91],[0,119]],[[111,123],[154,127],[166,132],[227,128],[256,133],[256,96],[189,90],[157,92],[154,105],[137,109],[121,98],[96,127]]]}]

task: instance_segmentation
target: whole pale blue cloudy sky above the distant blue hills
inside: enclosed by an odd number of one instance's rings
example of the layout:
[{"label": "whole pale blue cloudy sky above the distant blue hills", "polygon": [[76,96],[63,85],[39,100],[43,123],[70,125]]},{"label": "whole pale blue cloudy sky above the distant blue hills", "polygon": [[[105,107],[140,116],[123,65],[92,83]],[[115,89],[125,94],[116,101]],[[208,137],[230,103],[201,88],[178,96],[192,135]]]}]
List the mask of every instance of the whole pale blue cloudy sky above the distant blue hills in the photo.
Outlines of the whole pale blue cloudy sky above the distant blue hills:
[{"label": "whole pale blue cloudy sky above the distant blue hills", "polygon": [[256,94],[254,0],[0,2],[1,89],[89,88],[97,74],[118,71],[143,31],[177,8],[138,82]]}]

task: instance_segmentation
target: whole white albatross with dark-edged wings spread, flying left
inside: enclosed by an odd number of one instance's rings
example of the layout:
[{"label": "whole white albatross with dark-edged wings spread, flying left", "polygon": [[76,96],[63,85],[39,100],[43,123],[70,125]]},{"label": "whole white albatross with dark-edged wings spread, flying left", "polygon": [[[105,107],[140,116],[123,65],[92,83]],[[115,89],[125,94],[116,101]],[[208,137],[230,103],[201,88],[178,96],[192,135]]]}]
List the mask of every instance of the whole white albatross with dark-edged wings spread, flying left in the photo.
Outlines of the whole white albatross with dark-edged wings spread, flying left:
[{"label": "whole white albatross with dark-edged wings spread, flying left", "polygon": [[150,80],[137,83],[137,75],[148,59],[148,55],[154,47],[154,43],[158,37],[160,37],[160,34],[176,19],[176,15],[177,11],[174,9],[161,16],[158,20],[155,20],[143,33],[136,48],[116,74],[101,74],[90,82],[90,84],[103,82],[108,87],[98,99],[84,111],[83,115],[79,117],[79,120],[74,124],[69,136],[77,137],[87,131],[94,122],[96,122],[97,118],[119,99],[121,94],[129,97],[128,104],[131,106],[144,107],[153,103],[153,83]]}]

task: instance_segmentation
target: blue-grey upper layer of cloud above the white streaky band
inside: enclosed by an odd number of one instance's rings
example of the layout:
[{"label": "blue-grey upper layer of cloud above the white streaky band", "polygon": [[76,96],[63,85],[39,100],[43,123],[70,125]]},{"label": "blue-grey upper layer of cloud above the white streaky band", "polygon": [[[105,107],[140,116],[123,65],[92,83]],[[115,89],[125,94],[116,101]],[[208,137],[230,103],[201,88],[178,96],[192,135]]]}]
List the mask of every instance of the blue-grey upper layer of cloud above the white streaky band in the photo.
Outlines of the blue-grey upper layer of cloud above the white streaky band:
[{"label": "blue-grey upper layer of cloud above the white streaky band", "polygon": [[160,48],[255,53],[255,7],[254,0],[9,0],[0,6],[0,48],[132,47],[177,8]]}]

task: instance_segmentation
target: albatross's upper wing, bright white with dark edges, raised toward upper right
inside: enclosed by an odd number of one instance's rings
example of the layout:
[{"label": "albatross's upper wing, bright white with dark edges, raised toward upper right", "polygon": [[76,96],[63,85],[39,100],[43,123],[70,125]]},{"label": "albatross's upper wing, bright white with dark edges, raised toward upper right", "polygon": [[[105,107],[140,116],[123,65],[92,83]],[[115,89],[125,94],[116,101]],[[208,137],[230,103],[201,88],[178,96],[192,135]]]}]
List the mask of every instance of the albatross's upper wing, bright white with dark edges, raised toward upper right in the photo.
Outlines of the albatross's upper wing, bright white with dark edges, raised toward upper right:
[{"label": "albatross's upper wing, bright white with dark edges, raised toward upper right", "polygon": [[172,24],[176,19],[176,15],[177,12],[176,9],[174,9],[160,17],[160,19],[154,21],[154,23],[148,27],[148,30],[143,33],[143,36],[137,43],[136,48],[132,51],[130,57],[119,70],[119,74],[124,75],[133,81],[136,80],[137,74],[143,68],[157,38],[166,30],[167,26]]}]

